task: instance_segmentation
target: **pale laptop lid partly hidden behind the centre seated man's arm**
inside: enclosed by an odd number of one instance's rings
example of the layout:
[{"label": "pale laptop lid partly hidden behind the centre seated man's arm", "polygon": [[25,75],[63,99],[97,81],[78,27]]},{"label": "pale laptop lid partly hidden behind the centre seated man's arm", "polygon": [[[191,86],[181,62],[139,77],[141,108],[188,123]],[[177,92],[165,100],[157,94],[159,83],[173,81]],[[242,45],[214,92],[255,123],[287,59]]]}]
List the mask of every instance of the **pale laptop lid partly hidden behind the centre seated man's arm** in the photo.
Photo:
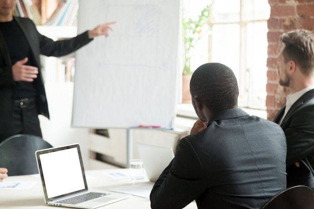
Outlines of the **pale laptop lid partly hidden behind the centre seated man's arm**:
[{"label": "pale laptop lid partly hidden behind the centre seated man's arm", "polygon": [[160,174],[162,174],[175,157],[174,151],[170,147],[137,143],[137,149],[143,161],[147,178],[151,182],[155,182],[158,179]]}]

